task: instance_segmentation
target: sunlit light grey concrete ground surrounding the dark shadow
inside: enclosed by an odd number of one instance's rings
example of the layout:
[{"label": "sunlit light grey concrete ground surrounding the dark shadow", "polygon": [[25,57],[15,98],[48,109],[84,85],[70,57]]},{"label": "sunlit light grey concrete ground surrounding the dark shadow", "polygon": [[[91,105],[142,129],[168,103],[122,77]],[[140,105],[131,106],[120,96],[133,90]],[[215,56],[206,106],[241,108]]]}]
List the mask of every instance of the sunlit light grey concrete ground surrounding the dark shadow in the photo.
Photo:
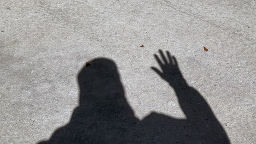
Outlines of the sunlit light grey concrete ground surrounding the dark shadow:
[{"label": "sunlit light grey concrete ground surrounding the dark shadow", "polygon": [[97,57],[118,65],[139,119],[153,111],[185,118],[150,69],[159,49],[176,56],[231,143],[256,143],[255,15],[255,0],[2,0],[0,143],[48,140],[68,123],[77,74]]}]

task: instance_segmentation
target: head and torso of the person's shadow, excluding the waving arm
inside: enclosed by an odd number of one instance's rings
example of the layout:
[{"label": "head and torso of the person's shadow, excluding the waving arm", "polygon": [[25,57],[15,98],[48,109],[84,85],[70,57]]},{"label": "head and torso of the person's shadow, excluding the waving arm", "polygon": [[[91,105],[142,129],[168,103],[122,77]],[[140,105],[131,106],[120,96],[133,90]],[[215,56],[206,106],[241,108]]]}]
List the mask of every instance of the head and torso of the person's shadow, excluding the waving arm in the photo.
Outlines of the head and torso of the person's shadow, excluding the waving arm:
[{"label": "head and torso of the person's shadow, excluding the waving arm", "polygon": [[42,143],[125,143],[138,122],[126,101],[117,66],[97,58],[78,74],[79,106],[71,121]]}]

